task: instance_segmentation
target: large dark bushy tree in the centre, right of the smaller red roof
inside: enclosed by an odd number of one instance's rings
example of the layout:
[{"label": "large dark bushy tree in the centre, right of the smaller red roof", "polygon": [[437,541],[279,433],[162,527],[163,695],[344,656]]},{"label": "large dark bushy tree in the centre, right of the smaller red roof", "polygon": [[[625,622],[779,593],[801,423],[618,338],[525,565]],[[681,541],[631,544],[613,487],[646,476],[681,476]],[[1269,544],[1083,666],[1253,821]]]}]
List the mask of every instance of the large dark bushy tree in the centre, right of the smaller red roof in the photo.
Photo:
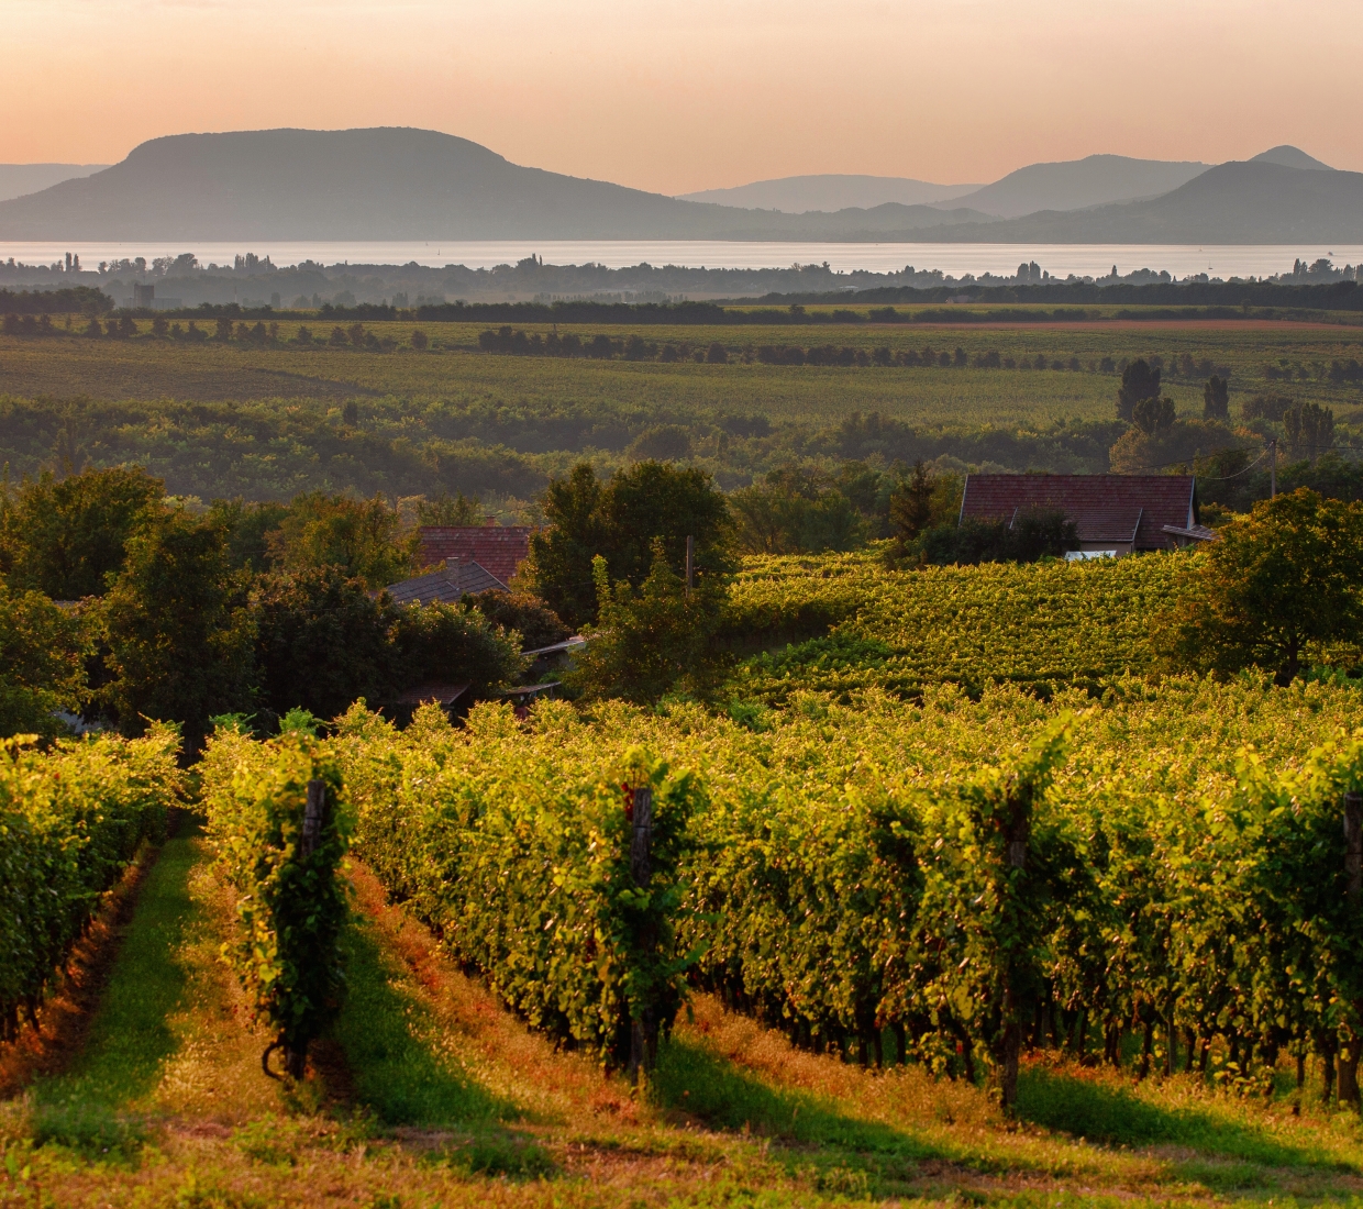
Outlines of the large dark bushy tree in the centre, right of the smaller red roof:
[{"label": "large dark bushy tree in the centre, right of the smaller red roof", "polygon": [[552,527],[532,534],[522,575],[570,626],[597,613],[597,556],[605,559],[612,579],[638,587],[652,572],[656,540],[662,541],[668,564],[682,571],[692,537],[698,582],[733,570],[728,504],[709,476],[694,468],[639,462],[602,484],[581,465],[549,484],[544,515]]}]

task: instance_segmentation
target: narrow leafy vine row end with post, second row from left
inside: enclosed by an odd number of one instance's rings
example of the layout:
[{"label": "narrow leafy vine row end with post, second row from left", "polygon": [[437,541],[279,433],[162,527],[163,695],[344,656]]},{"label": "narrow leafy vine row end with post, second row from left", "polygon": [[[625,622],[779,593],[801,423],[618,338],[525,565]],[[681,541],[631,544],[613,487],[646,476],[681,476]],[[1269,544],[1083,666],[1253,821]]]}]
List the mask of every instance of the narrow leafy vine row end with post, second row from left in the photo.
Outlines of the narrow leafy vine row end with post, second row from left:
[{"label": "narrow leafy vine row end with post, second row from left", "polygon": [[[348,905],[337,872],[352,816],[341,770],[301,729],[266,743],[217,731],[199,769],[209,838],[239,896],[224,955],[286,1055],[304,1055],[335,1018],[345,992]],[[324,785],[326,806],[308,852],[304,818],[315,780]]]}]

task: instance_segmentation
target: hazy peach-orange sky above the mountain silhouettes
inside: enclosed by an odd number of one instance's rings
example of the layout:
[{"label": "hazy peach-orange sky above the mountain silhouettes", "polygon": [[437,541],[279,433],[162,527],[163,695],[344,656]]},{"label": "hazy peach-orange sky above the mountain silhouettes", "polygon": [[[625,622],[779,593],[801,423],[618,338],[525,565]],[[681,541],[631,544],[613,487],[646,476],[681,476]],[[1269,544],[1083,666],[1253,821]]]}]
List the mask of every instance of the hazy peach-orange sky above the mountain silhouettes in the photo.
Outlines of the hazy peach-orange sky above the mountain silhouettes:
[{"label": "hazy peach-orange sky above the mountain silhouettes", "polygon": [[0,162],[418,125],[660,192],[1295,143],[1363,170],[1363,0],[0,0]]}]

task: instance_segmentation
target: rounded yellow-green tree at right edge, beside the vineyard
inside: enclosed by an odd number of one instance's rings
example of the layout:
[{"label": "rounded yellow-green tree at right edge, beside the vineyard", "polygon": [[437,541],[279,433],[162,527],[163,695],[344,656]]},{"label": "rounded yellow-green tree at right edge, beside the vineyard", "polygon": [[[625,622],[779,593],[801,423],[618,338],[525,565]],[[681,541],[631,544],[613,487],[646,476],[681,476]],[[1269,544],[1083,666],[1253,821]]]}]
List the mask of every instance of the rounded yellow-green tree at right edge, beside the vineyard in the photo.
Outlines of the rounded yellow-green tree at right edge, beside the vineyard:
[{"label": "rounded yellow-green tree at right edge, beside the vineyard", "polygon": [[1363,504],[1299,488],[1220,530],[1161,619],[1171,662],[1229,675],[1259,667],[1289,684],[1307,649],[1363,630]]}]

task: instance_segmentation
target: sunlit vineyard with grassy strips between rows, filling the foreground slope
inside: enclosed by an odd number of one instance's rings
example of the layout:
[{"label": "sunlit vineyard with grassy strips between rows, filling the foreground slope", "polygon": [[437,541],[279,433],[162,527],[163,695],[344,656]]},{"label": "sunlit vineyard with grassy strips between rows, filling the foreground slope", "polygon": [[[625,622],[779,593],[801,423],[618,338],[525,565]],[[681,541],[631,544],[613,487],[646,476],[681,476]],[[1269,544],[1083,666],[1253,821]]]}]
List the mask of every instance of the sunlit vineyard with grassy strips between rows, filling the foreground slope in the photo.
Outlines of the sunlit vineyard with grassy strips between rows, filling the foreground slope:
[{"label": "sunlit vineyard with grassy strips between rows, filling the foreground slope", "polygon": [[1184,566],[750,560],[720,710],[11,744],[0,1205],[1348,1195],[1359,691],[1150,676]]}]

